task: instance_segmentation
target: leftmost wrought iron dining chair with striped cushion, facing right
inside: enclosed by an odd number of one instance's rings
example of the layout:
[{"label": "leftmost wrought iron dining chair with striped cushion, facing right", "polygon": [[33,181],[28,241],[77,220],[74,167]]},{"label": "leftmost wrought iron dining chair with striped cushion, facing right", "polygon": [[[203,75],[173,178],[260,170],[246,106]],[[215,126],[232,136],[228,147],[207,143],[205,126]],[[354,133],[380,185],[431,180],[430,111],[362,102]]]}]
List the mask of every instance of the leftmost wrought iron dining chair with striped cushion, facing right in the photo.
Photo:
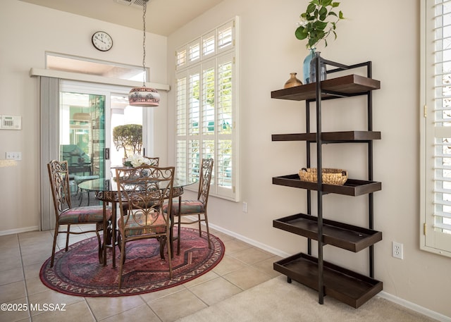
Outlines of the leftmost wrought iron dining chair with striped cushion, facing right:
[{"label": "leftmost wrought iron dining chair with striped cushion, facing right", "polygon": [[[54,244],[51,249],[50,267],[54,266],[56,239],[59,234],[66,233],[66,252],[68,251],[69,235],[80,235],[84,233],[96,233],[99,241],[99,262],[102,262],[102,243],[99,231],[106,233],[109,222],[111,221],[111,208],[104,206],[81,206],[73,207],[70,202],[69,185],[69,167],[68,161],[52,160],[47,164],[49,171],[49,180],[51,195],[54,200],[54,209],[56,214]],[[70,231],[70,225],[95,225],[94,230],[85,230],[82,232]],[[67,225],[67,230],[59,230],[61,225]]]}]

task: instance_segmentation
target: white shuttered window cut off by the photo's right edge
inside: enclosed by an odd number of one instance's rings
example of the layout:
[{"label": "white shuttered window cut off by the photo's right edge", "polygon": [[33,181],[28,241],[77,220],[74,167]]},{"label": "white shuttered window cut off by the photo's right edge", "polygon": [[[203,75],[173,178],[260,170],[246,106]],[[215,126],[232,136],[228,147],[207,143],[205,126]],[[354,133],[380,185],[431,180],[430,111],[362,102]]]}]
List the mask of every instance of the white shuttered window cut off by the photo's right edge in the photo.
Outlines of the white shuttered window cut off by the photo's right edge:
[{"label": "white shuttered window cut off by the photo's right edge", "polygon": [[451,256],[451,1],[421,13],[421,249]]}]

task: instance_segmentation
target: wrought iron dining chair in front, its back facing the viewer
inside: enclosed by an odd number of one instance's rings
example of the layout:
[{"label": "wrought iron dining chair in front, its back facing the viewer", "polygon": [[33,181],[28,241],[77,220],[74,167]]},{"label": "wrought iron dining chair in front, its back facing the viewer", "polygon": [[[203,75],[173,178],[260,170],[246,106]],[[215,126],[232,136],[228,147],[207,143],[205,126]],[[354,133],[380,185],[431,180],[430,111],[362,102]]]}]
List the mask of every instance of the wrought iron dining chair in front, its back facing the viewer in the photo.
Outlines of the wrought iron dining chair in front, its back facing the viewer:
[{"label": "wrought iron dining chair in front, its back facing the viewer", "polygon": [[[119,288],[122,285],[126,244],[134,240],[156,238],[160,256],[164,259],[165,244],[171,236],[171,213],[165,213],[165,200],[172,206],[174,167],[137,166],[116,168],[119,209],[118,245],[121,252]],[[124,206],[124,204],[127,206]],[[168,243],[169,278],[172,278],[171,246]]]}]

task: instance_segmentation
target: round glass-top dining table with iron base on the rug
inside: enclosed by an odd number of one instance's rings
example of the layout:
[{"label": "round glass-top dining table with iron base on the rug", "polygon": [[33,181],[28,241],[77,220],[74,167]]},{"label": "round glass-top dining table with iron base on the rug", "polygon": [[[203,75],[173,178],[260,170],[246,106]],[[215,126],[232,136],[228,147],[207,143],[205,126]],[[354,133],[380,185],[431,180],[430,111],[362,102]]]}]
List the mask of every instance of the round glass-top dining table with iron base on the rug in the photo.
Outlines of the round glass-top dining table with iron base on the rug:
[{"label": "round glass-top dining table with iron base on the rug", "polygon": [[[184,192],[183,188],[188,185],[194,185],[197,180],[187,180],[185,178],[174,178],[173,182],[173,198],[178,197],[179,199],[179,207],[181,204],[182,194]],[[116,226],[117,226],[117,204],[119,202],[119,194],[118,194],[118,185],[116,180],[110,178],[97,178],[86,180],[80,182],[78,187],[81,190],[92,191],[95,192],[97,199],[103,202],[104,206],[104,217],[106,217],[106,206],[111,203],[111,230],[114,232],[111,234],[111,244],[109,240],[107,240],[107,227],[104,225],[104,247],[103,247],[103,259],[104,266],[106,266],[106,247],[111,247],[112,249],[112,259],[113,259],[113,267],[116,267]],[[180,209],[179,209],[180,211]],[[173,223],[173,219],[171,223]],[[172,229],[171,229],[172,233]],[[172,234],[171,234],[172,235]],[[173,240],[171,236],[171,241]],[[170,242],[172,247],[172,242]]]}]

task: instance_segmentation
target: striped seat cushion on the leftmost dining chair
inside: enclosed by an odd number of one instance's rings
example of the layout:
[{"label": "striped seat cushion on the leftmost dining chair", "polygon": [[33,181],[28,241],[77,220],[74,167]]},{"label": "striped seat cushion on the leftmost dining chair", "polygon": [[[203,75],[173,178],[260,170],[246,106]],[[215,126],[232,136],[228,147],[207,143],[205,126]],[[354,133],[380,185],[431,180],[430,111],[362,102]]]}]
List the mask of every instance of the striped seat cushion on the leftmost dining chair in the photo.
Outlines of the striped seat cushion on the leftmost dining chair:
[{"label": "striped seat cushion on the leftmost dining chair", "polygon": [[[111,207],[106,207],[106,220],[111,219]],[[73,223],[103,223],[103,206],[82,206],[74,207],[63,211],[58,217],[60,225]]]}]

